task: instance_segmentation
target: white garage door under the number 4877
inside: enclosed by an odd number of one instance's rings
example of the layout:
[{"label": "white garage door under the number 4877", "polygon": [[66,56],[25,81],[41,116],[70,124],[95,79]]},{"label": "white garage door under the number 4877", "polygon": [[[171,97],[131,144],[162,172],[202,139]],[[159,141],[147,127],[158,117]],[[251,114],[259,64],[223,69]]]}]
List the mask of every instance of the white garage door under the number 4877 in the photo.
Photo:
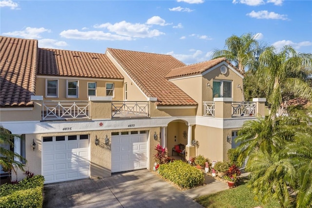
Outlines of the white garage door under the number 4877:
[{"label": "white garage door under the number 4877", "polygon": [[146,131],[112,135],[112,172],[147,168]]}]

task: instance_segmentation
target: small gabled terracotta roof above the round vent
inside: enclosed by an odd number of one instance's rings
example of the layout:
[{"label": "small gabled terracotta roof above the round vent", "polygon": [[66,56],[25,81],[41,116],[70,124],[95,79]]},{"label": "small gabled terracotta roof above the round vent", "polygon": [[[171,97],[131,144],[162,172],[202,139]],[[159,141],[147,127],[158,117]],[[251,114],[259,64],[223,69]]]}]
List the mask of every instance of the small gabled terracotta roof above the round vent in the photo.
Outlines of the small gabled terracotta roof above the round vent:
[{"label": "small gabled terracotta roof above the round vent", "polygon": [[237,72],[239,72],[241,75],[243,75],[243,73],[241,71],[239,71],[233,64],[231,64],[230,61],[228,61],[225,57],[221,57],[221,58],[216,58],[216,59],[212,59],[209,61],[204,61],[204,62],[195,63],[195,64],[191,64],[188,66],[183,66],[180,68],[173,69],[173,70],[171,70],[171,72],[169,72],[166,75],[166,78],[170,79],[170,78],[177,78],[177,77],[181,77],[181,76],[200,75],[201,73],[203,73],[203,72],[211,69],[212,67],[218,65],[222,61],[226,61]]}]

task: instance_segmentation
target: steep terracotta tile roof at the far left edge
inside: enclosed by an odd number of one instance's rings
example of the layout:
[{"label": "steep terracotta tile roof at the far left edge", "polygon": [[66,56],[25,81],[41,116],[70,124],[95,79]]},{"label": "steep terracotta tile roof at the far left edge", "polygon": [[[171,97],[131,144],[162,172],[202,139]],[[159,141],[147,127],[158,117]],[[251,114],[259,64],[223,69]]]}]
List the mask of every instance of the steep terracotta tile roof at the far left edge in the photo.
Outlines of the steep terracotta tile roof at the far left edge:
[{"label": "steep terracotta tile roof at the far left edge", "polygon": [[31,107],[36,87],[38,40],[0,36],[0,107]]}]

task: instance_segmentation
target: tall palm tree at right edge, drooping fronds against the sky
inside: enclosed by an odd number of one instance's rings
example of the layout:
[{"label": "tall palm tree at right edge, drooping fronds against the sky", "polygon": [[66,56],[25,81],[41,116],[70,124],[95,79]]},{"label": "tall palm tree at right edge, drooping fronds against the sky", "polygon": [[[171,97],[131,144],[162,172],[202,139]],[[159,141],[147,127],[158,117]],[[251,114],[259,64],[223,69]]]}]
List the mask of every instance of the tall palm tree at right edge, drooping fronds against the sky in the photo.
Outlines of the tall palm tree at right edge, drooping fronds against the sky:
[{"label": "tall palm tree at right edge, drooping fronds against the sky", "polygon": [[312,54],[297,53],[291,46],[285,46],[279,53],[267,47],[259,57],[260,68],[257,70],[259,82],[265,86],[267,100],[271,104],[271,117],[283,112],[283,89],[292,89],[296,96],[312,99],[312,89],[301,78],[303,69],[311,70]]}]

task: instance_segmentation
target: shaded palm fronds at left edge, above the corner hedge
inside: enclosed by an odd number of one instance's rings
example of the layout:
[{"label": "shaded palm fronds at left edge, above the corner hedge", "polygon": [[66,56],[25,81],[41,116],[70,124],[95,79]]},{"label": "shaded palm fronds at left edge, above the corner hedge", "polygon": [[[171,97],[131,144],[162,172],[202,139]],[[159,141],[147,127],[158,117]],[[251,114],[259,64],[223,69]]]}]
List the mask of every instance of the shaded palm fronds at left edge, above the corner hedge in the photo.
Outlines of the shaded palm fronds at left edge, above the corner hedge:
[{"label": "shaded palm fronds at left edge, above the corner hedge", "polygon": [[17,169],[24,171],[24,164],[15,161],[18,158],[20,161],[25,160],[20,154],[8,150],[3,147],[5,144],[9,144],[10,147],[14,147],[14,138],[20,136],[11,134],[10,131],[0,126],[0,165],[4,171],[10,172],[13,170],[17,173]]}]

